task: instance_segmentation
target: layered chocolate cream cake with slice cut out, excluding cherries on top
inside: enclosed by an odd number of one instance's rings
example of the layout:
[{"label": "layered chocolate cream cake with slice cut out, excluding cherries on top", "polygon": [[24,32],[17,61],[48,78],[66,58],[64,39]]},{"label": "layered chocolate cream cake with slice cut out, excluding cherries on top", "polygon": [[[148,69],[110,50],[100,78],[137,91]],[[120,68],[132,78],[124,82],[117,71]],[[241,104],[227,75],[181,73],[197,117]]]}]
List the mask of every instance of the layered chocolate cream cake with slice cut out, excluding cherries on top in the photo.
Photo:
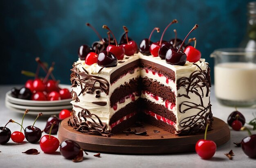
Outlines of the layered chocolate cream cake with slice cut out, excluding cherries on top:
[{"label": "layered chocolate cream cake with slice cut out, excluding cherries on top", "polygon": [[183,66],[160,57],[124,56],[115,67],[78,60],[72,74],[69,124],[82,133],[110,136],[137,120],[175,135],[212,125],[210,69],[204,59]]}]

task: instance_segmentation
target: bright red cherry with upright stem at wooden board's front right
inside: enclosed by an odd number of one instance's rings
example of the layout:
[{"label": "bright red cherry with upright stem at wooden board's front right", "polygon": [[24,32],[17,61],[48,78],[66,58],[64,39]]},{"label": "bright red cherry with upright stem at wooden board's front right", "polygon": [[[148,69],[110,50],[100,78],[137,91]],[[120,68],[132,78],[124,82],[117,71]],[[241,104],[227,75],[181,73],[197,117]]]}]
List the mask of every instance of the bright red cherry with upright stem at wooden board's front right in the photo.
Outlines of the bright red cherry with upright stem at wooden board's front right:
[{"label": "bright red cherry with upright stem at wooden board's front right", "polygon": [[198,142],[195,144],[195,151],[202,159],[210,159],[216,152],[215,142],[206,140],[208,126],[209,123],[207,123],[205,129],[204,139],[198,140]]}]

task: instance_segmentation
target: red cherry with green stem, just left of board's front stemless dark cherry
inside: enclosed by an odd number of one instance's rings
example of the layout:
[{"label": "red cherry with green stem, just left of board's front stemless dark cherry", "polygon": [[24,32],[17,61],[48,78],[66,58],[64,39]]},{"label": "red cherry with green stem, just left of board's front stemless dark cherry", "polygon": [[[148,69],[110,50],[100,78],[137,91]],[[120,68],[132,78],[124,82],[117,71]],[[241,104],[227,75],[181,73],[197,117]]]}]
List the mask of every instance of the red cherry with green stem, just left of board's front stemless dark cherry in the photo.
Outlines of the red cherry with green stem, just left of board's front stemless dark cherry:
[{"label": "red cherry with green stem, just left of board's front stemless dark cherry", "polygon": [[56,124],[56,121],[52,123],[49,135],[44,135],[40,139],[40,148],[44,153],[54,153],[59,147],[59,140],[56,137],[51,136],[52,127],[54,124]]}]

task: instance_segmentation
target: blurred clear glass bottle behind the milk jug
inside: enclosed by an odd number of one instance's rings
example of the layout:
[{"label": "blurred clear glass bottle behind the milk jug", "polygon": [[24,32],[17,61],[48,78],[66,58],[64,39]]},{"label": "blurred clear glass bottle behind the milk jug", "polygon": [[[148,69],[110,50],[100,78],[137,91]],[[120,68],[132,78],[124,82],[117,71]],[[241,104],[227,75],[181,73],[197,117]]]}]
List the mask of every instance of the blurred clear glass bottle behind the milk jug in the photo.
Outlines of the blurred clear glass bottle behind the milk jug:
[{"label": "blurred clear glass bottle behind the milk jug", "polygon": [[245,50],[256,49],[256,2],[249,2],[247,11],[247,33],[240,44]]}]

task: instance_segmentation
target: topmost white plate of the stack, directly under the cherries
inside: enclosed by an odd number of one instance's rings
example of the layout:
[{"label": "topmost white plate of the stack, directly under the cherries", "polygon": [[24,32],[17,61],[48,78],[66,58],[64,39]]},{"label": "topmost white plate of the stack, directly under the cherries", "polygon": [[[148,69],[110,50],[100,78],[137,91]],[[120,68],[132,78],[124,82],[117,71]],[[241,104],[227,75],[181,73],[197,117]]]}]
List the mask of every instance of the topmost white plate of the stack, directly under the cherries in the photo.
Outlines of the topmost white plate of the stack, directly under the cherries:
[{"label": "topmost white plate of the stack, directly under the cherries", "polygon": [[[59,85],[61,88],[67,88],[71,91],[70,85]],[[5,98],[12,104],[23,105],[23,106],[39,106],[39,107],[49,107],[49,106],[59,106],[59,105],[70,105],[71,98],[64,100],[54,100],[54,101],[35,101],[35,100],[23,100],[20,98],[14,98],[11,96],[11,91],[7,92]]]}]

